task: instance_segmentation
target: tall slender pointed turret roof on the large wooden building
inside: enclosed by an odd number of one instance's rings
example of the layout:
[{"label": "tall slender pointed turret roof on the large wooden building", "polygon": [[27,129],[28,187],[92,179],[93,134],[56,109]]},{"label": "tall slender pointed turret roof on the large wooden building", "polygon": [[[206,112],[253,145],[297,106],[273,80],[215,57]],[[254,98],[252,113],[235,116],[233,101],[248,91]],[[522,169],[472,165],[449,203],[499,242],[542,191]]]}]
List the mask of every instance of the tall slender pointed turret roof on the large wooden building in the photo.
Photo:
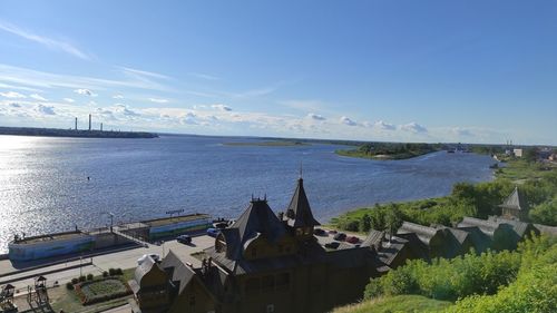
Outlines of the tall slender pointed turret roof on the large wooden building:
[{"label": "tall slender pointed turret roof on the large wooden building", "polygon": [[297,179],[296,190],[290,200],[289,208],[286,209],[285,219],[291,227],[309,227],[321,225],[313,217],[310,202],[304,190],[304,179]]}]

